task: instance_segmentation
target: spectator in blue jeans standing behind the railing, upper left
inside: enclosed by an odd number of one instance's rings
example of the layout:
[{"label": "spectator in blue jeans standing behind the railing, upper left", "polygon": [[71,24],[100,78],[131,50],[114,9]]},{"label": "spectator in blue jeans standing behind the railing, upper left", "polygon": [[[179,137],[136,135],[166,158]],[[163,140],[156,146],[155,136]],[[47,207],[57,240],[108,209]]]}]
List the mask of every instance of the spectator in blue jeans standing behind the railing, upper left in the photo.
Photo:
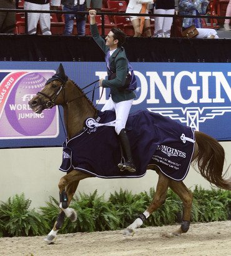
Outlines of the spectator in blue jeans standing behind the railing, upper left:
[{"label": "spectator in blue jeans standing behind the railing, upper left", "polygon": [[86,15],[78,14],[77,11],[85,11],[85,0],[62,0],[63,11],[75,11],[76,13],[64,14],[66,36],[71,36],[76,17],[78,36],[85,36]]}]

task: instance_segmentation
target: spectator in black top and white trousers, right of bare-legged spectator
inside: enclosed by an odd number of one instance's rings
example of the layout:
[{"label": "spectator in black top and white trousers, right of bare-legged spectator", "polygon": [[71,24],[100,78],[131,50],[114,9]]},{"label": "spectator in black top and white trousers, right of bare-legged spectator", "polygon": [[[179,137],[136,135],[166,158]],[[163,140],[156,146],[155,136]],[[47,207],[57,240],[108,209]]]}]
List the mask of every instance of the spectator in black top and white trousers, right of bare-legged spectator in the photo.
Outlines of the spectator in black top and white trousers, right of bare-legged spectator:
[{"label": "spectator in black top and white trousers, right of bare-legged spectator", "polygon": [[[174,14],[175,0],[155,0],[154,14]],[[172,17],[155,17],[155,38],[170,38]]]}]

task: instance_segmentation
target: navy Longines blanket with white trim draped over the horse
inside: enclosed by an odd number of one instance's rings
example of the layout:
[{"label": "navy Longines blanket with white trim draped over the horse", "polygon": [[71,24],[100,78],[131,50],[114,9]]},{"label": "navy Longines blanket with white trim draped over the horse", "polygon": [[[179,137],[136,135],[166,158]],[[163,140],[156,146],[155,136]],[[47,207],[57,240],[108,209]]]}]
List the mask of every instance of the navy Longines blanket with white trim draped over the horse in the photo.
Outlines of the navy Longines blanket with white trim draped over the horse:
[{"label": "navy Longines blanket with white trim draped over the horse", "polygon": [[[104,124],[114,120],[114,111],[104,111],[93,121]],[[138,178],[145,175],[149,165],[156,165],[176,181],[184,180],[189,172],[195,135],[188,126],[149,111],[130,114],[125,130],[137,167],[135,173],[120,172],[117,167],[121,155],[114,126],[90,127],[64,142],[59,170],[70,172],[74,168],[100,178]]]}]

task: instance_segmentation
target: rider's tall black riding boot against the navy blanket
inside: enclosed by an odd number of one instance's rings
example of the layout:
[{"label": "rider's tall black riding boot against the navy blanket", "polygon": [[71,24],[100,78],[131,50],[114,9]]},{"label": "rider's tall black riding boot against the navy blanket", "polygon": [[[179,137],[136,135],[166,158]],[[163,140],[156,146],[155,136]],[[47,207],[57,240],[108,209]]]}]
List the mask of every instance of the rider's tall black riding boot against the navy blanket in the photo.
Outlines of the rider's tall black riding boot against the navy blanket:
[{"label": "rider's tall black riding boot against the navy blanket", "polygon": [[119,136],[120,145],[123,151],[123,154],[121,154],[122,155],[121,163],[118,164],[118,167],[120,168],[121,172],[123,172],[124,170],[128,170],[129,172],[135,172],[136,168],[132,160],[132,151],[130,150],[130,142],[129,142],[129,138],[127,137],[127,133],[125,129],[122,129],[118,136]]}]

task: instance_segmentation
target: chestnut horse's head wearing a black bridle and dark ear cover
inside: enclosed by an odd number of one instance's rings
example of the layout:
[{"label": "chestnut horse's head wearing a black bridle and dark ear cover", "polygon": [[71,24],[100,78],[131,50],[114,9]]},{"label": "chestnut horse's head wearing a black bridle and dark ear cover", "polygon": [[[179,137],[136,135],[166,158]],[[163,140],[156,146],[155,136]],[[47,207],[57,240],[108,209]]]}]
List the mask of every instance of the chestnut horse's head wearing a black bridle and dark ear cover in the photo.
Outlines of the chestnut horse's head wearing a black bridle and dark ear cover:
[{"label": "chestnut horse's head wearing a black bridle and dark ear cover", "polygon": [[52,108],[54,105],[62,105],[64,97],[61,96],[61,91],[68,80],[62,64],[52,78],[48,79],[42,91],[39,91],[32,100],[29,101],[31,109],[41,114],[42,110]]}]

